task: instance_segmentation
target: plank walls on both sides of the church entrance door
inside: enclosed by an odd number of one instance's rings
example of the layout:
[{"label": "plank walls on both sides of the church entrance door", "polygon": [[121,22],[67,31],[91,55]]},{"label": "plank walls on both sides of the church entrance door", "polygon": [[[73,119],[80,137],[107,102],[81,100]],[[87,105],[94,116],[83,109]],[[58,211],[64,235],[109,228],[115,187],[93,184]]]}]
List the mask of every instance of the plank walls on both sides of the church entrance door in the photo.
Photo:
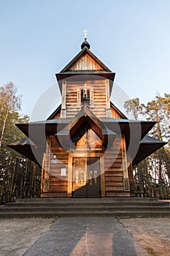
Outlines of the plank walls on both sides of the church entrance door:
[{"label": "plank walls on both sides of the church entrance door", "polygon": [[[72,191],[68,192],[68,166],[69,154],[63,151],[58,145],[54,136],[51,139],[51,154],[50,154],[50,188],[49,192],[43,192],[43,197],[67,197],[72,196]],[[122,151],[120,148],[120,135],[117,135],[115,141],[109,151],[105,152],[101,157],[101,167],[104,167],[104,174],[101,184],[102,195],[106,197],[121,197],[125,195],[123,189],[123,170],[122,170]],[[54,157],[56,155],[56,158]],[[93,155],[95,157],[95,155]],[[57,162],[54,160],[57,159]],[[102,167],[102,168],[103,168]],[[61,168],[66,168],[66,176],[61,176]],[[104,187],[102,187],[104,186]],[[71,187],[72,190],[72,187]]]}]

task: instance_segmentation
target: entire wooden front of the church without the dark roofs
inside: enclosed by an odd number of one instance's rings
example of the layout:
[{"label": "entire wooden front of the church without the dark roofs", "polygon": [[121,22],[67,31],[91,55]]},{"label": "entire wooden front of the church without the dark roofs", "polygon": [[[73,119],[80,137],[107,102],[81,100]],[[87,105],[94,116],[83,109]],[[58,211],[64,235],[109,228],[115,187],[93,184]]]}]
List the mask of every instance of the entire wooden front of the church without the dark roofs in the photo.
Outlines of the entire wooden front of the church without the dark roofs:
[{"label": "entire wooden front of the church without the dark roofs", "polygon": [[[85,70],[90,71],[90,75],[82,75]],[[77,115],[82,110],[82,99],[85,96],[89,99],[87,108],[98,120],[123,118],[123,114],[111,105],[109,79],[91,73],[98,70],[108,72],[85,51],[83,56],[65,71],[81,72],[81,75],[61,81],[61,109],[51,118],[75,118],[77,123],[81,122]],[[90,119],[90,116],[88,118]],[[98,127],[94,129],[95,125],[93,121],[80,124],[72,136],[73,139],[70,138],[76,147],[74,151],[72,146],[66,151],[55,135],[47,136],[47,149],[43,159],[45,164],[42,167],[42,197],[130,196],[125,135],[116,135],[112,145],[107,148],[104,136],[100,138],[96,134]]]}]

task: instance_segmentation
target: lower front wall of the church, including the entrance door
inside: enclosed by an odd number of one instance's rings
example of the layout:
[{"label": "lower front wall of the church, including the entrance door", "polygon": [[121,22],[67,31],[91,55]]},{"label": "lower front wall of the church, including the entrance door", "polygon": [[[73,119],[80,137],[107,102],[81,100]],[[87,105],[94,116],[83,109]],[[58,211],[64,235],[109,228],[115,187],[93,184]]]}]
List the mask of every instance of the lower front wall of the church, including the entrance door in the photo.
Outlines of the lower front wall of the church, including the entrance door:
[{"label": "lower front wall of the church, including the entrance door", "polygon": [[[77,152],[76,154],[66,153],[58,145],[55,137],[49,136],[48,143],[50,143],[48,145],[51,146],[51,152],[47,147],[47,152],[44,155],[45,165],[42,166],[42,196],[130,196],[127,158],[123,148],[124,141],[123,137],[119,138],[117,136],[106,154],[104,152],[98,153],[97,149],[100,150],[101,148],[95,148],[96,151],[94,149],[87,156],[87,153],[84,151],[81,151],[81,153]],[[85,150],[87,149],[89,147],[85,148]],[[91,165],[91,170],[88,167],[89,165]],[[88,184],[90,171],[93,172],[91,174],[93,180],[90,181],[91,184]],[[95,171],[97,181],[95,180]],[[90,187],[93,188],[90,189]],[[75,189],[77,189],[77,193],[75,193]]]}]

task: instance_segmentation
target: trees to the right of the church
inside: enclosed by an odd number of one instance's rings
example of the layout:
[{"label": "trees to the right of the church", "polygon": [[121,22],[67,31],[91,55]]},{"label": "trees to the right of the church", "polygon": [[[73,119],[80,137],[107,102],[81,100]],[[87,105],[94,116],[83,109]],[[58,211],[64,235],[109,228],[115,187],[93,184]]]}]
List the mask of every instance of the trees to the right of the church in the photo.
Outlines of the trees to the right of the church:
[{"label": "trees to the right of the church", "polygon": [[[150,157],[144,159],[135,168],[139,177],[152,177],[160,184],[170,184],[170,94],[164,97],[157,95],[147,105],[140,104],[139,98],[130,99],[125,102],[127,113],[132,113],[135,119],[146,118],[148,121],[156,121],[155,126],[149,132],[153,138],[168,142],[166,146],[155,151]],[[141,181],[139,181],[140,183]],[[145,182],[146,183],[146,182]],[[144,184],[144,183],[143,183]],[[143,185],[142,185],[143,186]]]}]

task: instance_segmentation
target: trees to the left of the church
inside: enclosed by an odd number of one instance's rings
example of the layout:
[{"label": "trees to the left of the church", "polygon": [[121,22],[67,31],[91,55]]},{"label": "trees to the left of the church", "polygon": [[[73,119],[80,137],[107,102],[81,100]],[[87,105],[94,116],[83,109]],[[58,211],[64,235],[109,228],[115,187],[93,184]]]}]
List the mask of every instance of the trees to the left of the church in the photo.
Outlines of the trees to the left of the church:
[{"label": "trees to the left of the church", "polygon": [[26,157],[7,147],[8,143],[24,138],[16,123],[28,122],[20,117],[20,95],[13,83],[0,87],[0,203],[14,197],[39,196],[41,170]]}]

